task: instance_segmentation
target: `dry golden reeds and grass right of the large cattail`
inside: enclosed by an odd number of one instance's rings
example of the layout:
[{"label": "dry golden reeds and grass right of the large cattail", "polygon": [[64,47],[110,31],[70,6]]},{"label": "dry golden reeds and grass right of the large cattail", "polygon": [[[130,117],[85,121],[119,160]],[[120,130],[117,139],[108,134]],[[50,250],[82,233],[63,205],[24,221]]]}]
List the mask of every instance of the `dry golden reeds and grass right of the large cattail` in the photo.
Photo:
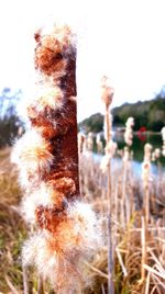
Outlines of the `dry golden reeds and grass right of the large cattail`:
[{"label": "dry golden reeds and grass right of the large cattail", "polygon": [[[99,163],[95,162],[92,155],[81,157],[81,193],[106,218],[107,174],[101,174]],[[150,222],[146,224],[141,178],[136,178],[131,166],[128,167],[124,177],[122,161],[118,168],[112,166],[111,171],[114,293],[163,294],[165,291],[164,174],[160,174],[161,180],[153,177],[150,184]],[[103,293],[102,289],[105,287],[105,291],[107,289],[107,244],[106,241],[105,248],[89,264],[97,286],[94,293]]]}]

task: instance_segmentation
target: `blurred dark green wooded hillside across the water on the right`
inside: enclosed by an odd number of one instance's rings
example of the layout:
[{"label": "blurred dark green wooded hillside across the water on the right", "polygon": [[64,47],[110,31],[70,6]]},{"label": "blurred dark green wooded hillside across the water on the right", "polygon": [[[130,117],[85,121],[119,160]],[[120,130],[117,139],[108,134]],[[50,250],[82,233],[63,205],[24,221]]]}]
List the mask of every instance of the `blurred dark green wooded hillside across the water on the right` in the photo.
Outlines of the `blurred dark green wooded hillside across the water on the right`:
[{"label": "blurred dark green wooded hillside across the water on the right", "polygon": [[[133,116],[135,120],[135,131],[145,127],[147,131],[160,132],[165,125],[165,90],[156,95],[155,99],[136,103],[124,103],[112,110],[113,126],[123,127],[127,118]],[[79,124],[79,128],[85,133],[98,133],[103,129],[103,115],[94,114]]]}]

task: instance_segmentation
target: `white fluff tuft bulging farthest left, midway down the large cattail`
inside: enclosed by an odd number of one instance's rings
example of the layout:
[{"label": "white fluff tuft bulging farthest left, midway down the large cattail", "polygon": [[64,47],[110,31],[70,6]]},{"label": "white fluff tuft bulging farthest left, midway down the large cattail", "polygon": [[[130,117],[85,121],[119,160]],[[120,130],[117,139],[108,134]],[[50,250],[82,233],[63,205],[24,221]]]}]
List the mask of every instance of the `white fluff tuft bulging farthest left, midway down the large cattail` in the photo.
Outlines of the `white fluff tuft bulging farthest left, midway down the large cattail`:
[{"label": "white fluff tuft bulging farthest left, midway down the large cattail", "polygon": [[30,178],[41,178],[43,172],[50,170],[53,155],[48,149],[50,144],[34,128],[16,142],[11,161],[20,170],[20,183],[23,188],[29,185]]}]

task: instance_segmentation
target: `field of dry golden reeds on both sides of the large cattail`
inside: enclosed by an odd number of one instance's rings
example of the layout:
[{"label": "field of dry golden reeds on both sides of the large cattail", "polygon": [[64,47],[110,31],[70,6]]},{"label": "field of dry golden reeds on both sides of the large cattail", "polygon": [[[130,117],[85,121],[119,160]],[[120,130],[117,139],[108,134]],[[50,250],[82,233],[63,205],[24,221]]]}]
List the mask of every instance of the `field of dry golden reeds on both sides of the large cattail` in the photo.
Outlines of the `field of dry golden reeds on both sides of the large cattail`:
[{"label": "field of dry golden reeds on both sides of the large cattail", "polygon": [[[90,138],[90,144],[91,138]],[[89,142],[88,142],[89,145]],[[91,148],[91,146],[90,146]],[[90,149],[89,148],[89,149]],[[21,248],[28,228],[19,213],[21,192],[16,170],[10,162],[11,149],[0,151],[0,292],[23,293]],[[81,293],[107,293],[107,173],[90,150],[79,158],[80,190],[101,219],[105,241],[90,262],[85,261],[92,284]],[[148,207],[144,206],[142,179],[132,162],[111,163],[111,231],[114,293],[161,293],[165,291],[165,176],[150,176]],[[146,205],[146,203],[145,203]],[[147,219],[146,219],[147,212]],[[30,293],[37,293],[37,275],[29,273]],[[47,290],[46,290],[47,289]],[[45,287],[45,293],[53,293]]]}]

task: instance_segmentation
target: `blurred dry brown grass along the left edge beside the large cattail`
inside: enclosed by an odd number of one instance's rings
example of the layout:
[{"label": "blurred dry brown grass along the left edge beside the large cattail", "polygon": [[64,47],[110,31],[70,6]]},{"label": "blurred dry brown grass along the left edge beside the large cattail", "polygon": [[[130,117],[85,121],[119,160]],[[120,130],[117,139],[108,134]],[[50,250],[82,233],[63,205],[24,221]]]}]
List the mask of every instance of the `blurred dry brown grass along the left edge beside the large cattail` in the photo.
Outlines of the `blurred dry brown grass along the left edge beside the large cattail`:
[{"label": "blurred dry brown grass along the left edge beside the large cattail", "polygon": [[[22,293],[21,248],[26,230],[16,207],[21,199],[10,149],[0,151],[0,293]],[[18,291],[18,292],[16,292]]]}]

